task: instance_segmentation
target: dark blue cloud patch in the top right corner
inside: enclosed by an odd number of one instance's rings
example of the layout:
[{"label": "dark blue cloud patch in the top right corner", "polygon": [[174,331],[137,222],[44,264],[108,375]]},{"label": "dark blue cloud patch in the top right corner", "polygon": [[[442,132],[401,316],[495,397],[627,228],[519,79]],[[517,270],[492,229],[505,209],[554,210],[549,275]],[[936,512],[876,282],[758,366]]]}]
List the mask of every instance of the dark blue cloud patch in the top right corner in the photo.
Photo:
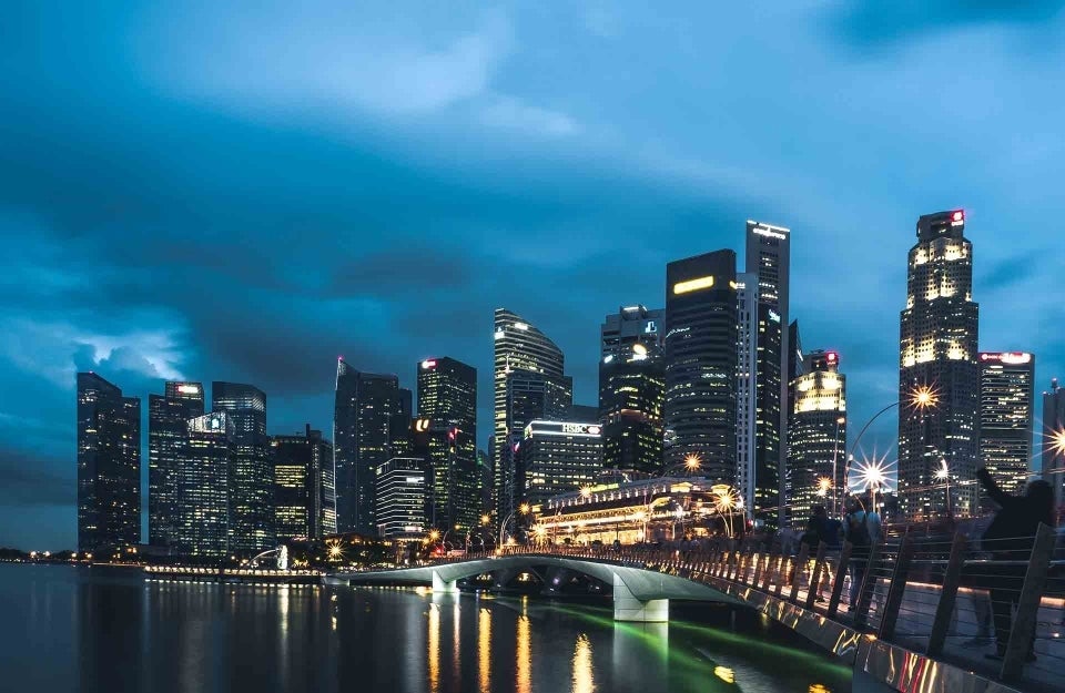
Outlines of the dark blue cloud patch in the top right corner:
[{"label": "dark blue cloud patch in the top right corner", "polygon": [[1034,26],[1062,8],[1062,0],[838,0],[828,17],[833,30],[862,45],[981,24]]}]

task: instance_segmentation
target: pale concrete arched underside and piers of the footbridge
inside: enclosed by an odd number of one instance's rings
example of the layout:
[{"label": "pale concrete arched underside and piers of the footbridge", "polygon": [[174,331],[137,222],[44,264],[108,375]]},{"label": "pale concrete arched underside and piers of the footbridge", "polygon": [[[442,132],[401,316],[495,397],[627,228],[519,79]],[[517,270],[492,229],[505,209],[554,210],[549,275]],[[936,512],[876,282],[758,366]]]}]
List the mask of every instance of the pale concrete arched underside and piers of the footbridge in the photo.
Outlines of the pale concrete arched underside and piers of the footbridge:
[{"label": "pale concrete arched underside and piers of the footbridge", "polygon": [[334,579],[348,584],[432,587],[434,592],[448,593],[458,591],[459,580],[491,574],[496,584],[507,584],[514,577],[530,572],[548,585],[548,591],[575,573],[606,583],[613,590],[615,621],[669,621],[671,599],[746,604],[702,582],[649,570],[646,562],[599,556],[511,553],[417,568],[337,573]]}]

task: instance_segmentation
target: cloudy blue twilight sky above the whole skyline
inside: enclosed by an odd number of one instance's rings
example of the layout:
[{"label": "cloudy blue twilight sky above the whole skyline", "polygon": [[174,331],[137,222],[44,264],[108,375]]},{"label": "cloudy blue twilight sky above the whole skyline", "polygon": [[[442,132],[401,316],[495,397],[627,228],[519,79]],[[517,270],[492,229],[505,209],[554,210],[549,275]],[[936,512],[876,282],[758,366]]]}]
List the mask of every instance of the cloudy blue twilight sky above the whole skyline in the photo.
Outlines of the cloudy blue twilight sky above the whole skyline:
[{"label": "cloudy blue twilight sky above the whole skyline", "polygon": [[331,429],[338,354],[407,387],[447,355],[483,439],[494,307],[592,404],[602,316],[747,218],[792,228],[855,431],[922,213],[967,211],[981,348],[1065,376],[1063,1],[77,4],[0,23],[0,546],[74,544],[79,369],[145,436],[166,378],[255,384],[285,432]]}]

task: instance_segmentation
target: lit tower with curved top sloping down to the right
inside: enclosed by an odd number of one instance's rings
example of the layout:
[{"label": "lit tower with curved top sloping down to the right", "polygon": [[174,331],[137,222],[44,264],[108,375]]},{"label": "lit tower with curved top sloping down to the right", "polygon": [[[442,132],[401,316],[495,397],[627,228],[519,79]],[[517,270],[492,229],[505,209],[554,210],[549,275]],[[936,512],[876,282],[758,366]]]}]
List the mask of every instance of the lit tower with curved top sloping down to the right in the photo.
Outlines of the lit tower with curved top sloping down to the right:
[{"label": "lit tower with curved top sloping down to the right", "polygon": [[[496,511],[499,513],[496,519],[498,522],[514,510],[514,444],[520,439],[525,426],[532,418],[545,418],[540,415],[514,420],[511,417],[514,407],[508,405],[508,400],[516,391],[510,386],[511,376],[520,370],[524,371],[525,377],[528,377],[528,374],[547,376],[558,379],[556,383],[561,384],[565,359],[562,350],[547,335],[506,308],[496,308],[493,338],[495,344],[493,370],[495,444],[491,446],[491,461],[496,472],[494,500]],[[567,411],[571,405],[572,386],[570,385]]]}]

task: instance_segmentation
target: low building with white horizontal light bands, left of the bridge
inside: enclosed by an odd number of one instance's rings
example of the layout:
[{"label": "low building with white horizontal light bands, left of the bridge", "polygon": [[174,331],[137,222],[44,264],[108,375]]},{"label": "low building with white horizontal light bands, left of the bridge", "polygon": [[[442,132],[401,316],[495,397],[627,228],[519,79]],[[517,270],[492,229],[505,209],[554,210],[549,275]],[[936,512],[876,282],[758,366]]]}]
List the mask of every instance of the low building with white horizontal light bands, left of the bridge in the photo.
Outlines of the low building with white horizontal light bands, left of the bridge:
[{"label": "low building with white horizontal light bands, left of the bridge", "polygon": [[419,457],[394,457],[376,470],[375,516],[385,539],[425,538],[429,529],[426,507],[426,462]]}]

